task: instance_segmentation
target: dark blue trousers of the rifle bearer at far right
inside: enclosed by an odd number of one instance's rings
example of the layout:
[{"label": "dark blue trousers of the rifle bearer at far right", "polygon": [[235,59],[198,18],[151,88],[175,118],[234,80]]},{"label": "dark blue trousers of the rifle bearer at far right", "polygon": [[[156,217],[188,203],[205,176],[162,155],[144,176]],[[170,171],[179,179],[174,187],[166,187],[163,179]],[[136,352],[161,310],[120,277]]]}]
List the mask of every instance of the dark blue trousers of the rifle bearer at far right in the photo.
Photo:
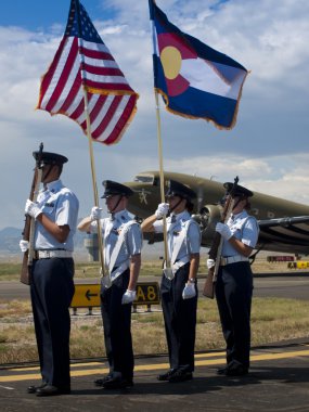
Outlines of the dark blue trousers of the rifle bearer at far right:
[{"label": "dark blue trousers of the rifle bearer at far right", "polygon": [[216,298],[227,343],[227,362],[236,360],[245,368],[249,368],[252,296],[249,262],[220,266]]}]

